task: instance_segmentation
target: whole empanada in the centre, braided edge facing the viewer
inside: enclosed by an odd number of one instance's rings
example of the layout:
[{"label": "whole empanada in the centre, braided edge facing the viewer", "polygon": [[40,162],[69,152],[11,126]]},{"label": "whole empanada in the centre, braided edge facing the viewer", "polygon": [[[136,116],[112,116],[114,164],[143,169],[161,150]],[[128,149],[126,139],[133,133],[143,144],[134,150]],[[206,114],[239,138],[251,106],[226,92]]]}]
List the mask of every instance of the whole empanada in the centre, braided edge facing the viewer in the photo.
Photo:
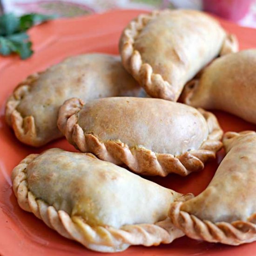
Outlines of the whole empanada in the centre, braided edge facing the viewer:
[{"label": "whole empanada in the centre, braided edge facing the viewer", "polygon": [[61,106],[58,127],[81,152],[144,175],[185,176],[222,147],[216,117],[199,111],[152,98],[73,98]]}]

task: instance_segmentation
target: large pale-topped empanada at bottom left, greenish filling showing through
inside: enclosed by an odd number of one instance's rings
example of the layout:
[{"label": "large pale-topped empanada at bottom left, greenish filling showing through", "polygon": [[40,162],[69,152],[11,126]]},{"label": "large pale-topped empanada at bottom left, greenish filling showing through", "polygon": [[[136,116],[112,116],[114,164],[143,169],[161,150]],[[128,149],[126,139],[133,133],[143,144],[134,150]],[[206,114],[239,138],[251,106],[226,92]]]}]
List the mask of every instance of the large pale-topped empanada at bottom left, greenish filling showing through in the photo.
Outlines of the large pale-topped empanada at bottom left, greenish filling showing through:
[{"label": "large pale-topped empanada at bottom left, greenish filling showing through", "polygon": [[133,244],[171,243],[183,236],[167,217],[182,195],[92,154],[53,148],[13,169],[22,209],[89,249],[116,252]]}]

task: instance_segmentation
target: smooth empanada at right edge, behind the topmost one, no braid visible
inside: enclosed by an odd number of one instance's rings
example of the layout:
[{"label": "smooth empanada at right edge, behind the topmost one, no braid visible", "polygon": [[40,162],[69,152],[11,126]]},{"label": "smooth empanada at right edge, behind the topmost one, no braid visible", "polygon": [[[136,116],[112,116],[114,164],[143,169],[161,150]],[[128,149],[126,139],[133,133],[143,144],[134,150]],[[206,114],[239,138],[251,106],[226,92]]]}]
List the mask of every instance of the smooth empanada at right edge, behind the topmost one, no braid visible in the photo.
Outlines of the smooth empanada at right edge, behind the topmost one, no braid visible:
[{"label": "smooth empanada at right edge, behind the topmost one, no braid visible", "polygon": [[228,54],[184,88],[186,104],[220,109],[256,124],[256,49]]}]

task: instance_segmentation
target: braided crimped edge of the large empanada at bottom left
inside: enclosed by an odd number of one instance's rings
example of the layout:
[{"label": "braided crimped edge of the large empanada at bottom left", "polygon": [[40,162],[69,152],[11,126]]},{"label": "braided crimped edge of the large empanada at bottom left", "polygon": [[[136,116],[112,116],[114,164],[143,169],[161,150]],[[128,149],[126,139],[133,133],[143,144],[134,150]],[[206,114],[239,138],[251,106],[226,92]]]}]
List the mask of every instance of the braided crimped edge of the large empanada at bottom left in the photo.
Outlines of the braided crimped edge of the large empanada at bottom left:
[{"label": "braided crimped edge of the large empanada at bottom left", "polygon": [[[22,209],[34,213],[61,236],[73,239],[89,249],[117,252],[127,249],[130,245],[152,246],[171,243],[175,238],[184,235],[181,230],[174,227],[169,217],[155,224],[124,225],[120,229],[115,229],[110,226],[92,227],[81,216],[71,218],[65,211],[56,210],[54,206],[36,198],[27,187],[27,165],[38,156],[28,155],[13,169],[13,191]],[[183,195],[178,200],[188,200],[192,196]]]}]

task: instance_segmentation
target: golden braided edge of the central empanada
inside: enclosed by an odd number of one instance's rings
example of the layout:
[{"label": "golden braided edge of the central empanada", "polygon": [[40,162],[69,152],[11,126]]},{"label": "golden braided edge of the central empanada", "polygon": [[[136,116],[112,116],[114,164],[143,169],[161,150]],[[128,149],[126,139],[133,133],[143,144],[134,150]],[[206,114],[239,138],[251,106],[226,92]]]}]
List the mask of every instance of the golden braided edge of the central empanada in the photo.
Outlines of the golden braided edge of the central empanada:
[{"label": "golden braided edge of the central empanada", "polygon": [[73,98],[65,101],[59,110],[58,127],[69,143],[81,152],[94,153],[102,160],[117,165],[125,164],[139,174],[166,176],[168,173],[177,173],[186,176],[190,172],[202,170],[204,163],[215,158],[216,152],[222,148],[222,129],[216,117],[203,109],[199,111],[209,128],[207,140],[197,150],[174,156],[157,154],[142,146],[129,148],[121,141],[100,141],[95,135],[84,133],[77,118],[83,105],[81,100]]}]

